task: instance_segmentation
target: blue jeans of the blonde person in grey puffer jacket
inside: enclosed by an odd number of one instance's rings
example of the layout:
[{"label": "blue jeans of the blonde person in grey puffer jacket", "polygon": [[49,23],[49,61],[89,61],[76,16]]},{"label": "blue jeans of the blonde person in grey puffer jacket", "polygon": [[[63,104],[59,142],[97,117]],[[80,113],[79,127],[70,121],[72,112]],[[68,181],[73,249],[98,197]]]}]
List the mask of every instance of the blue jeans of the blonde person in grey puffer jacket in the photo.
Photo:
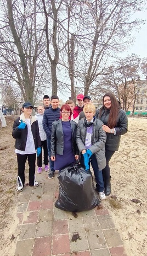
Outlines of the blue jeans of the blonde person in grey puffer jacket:
[{"label": "blue jeans of the blonde person in grey puffer jacket", "polygon": [[[81,165],[85,168],[84,166],[84,158],[83,155],[81,154]],[[104,181],[103,181],[103,174],[102,170],[99,170],[98,163],[97,163],[97,158],[95,157],[94,154],[92,154],[91,158],[89,159],[89,166],[90,163],[92,164],[93,172],[95,179],[97,181],[96,188],[98,192],[103,192],[104,191]]]}]

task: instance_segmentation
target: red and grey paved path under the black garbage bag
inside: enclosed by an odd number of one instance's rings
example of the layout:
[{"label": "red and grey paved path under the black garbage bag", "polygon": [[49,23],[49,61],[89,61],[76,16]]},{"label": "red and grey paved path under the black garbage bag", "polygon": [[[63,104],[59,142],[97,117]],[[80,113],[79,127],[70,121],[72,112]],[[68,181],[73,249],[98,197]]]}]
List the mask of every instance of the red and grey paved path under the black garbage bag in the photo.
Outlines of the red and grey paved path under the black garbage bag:
[{"label": "red and grey paved path under the black garbage bag", "polygon": [[[37,174],[39,186],[18,193],[15,256],[127,256],[120,234],[107,209],[78,212],[61,211],[58,174],[51,180],[47,172]],[[81,239],[72,242],[74,233]]]}]

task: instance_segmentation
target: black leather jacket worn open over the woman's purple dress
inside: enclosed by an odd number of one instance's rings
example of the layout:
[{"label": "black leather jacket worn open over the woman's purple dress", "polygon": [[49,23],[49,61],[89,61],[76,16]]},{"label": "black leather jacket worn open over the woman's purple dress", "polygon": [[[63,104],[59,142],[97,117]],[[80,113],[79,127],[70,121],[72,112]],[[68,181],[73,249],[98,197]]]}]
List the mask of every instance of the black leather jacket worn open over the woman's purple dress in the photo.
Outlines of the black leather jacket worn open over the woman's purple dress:
[{"label": "black leather jacket worn open over the woman's purple dress", "polygon": [[[76,122],[69,120],[72,130],[72,149],[75,154],[78,154],[78,148],[76,145]],[[63,134],[63,126],[62,120],[59,119],[58,121],[54,121],[52,124],[52,135],[50,140],[50,155],[52,157],[55,154],[63,155],[64,150],[64,134]]]}]

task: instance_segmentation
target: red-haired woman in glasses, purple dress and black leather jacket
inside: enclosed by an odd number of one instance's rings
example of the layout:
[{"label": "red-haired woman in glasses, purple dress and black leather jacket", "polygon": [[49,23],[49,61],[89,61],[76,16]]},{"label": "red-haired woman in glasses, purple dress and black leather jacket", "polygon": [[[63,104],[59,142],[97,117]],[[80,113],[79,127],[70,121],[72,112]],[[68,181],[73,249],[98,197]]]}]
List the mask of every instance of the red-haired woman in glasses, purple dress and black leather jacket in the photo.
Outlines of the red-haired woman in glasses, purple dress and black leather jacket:
[{"label": "red-haired woman in glasses, purple dress and black leather jacket", "polygon": [[61,106],[61,119],[52,124],[51,159],[54,169],[61,170],[69,164],[75,164],[78,159],[76,145],[76,122],[70,120],[72,114],[69,105]]}]

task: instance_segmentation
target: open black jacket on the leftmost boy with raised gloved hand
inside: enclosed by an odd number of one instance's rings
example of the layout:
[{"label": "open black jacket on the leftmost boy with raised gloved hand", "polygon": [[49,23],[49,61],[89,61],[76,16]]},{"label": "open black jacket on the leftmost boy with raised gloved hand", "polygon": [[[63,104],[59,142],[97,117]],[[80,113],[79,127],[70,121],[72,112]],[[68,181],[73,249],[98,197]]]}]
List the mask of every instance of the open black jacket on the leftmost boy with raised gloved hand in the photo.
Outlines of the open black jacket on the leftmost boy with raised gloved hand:
[{"label": "open black jacket on the leftmost boy with raised gloved hand", "polygon": [[[25,121],[24,114],[22,114],[19,118],[17,118],[14,121],[12,136],[13,138],[16,139],[15,148],[17,150],[25,151],[26,140],[27,140],[27,125],[25,129],[19,130],[18,126],[20,125],[21,119]],[[39,136],[38,121],[34,116],[31,116],[31,131],[32,131],[33,140],[35,143],[35,149],[37,149],[37,147],[41,147],[41,138]]]}]

